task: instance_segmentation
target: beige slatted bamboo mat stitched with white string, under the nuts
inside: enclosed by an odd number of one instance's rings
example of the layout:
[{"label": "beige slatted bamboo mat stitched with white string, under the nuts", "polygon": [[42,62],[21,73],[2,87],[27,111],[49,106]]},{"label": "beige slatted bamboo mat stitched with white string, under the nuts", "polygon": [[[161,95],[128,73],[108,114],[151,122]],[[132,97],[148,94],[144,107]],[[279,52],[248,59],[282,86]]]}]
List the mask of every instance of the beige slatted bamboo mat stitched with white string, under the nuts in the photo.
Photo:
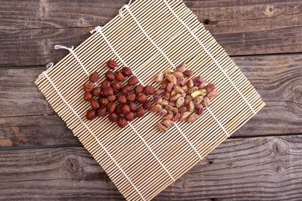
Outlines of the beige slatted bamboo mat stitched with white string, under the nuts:
[{"label": "beige slatted bamboo mat stitched with white string, under the nuts", "polygon": [[[36,80],[53,110],[107,172],[127,200],[150,200],[251,119],[265,103],[233,60],[180,0],[137,0]],[[135,21],[136,20],[136,21]],[[107,40],[107,41],[106,41]],[[63,50],[60,50],[63,51]],[[72,51],[72,50],[71,50]],[[87,121],[85,69],[104,80],[106,62],[132,69],[144,85],[186,62],[194,75],[214,82],[217,97],[194,123],[167,133],[147,112],[124,129],[108,115]],[[80,61],[80,62],[79,62]],[[114,70],[114,71],[116,71]],[[122,85],[127,82],[123,81]]]}]

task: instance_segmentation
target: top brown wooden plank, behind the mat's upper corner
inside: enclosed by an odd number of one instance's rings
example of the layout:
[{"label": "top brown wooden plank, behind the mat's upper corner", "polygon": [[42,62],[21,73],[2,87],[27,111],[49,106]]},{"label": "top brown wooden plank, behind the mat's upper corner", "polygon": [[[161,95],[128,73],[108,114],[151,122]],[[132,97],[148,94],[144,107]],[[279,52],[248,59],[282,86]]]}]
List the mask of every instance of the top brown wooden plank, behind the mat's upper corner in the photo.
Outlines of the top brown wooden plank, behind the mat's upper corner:
[{"label": "top brown wooden plank, behind the mat's upper corner", "polygon": [[[93,27],[106,24],[128,1],[3,1],[0,66],[58,62]],[[301,1],[185,1],[229,55],[301,52]]]}]

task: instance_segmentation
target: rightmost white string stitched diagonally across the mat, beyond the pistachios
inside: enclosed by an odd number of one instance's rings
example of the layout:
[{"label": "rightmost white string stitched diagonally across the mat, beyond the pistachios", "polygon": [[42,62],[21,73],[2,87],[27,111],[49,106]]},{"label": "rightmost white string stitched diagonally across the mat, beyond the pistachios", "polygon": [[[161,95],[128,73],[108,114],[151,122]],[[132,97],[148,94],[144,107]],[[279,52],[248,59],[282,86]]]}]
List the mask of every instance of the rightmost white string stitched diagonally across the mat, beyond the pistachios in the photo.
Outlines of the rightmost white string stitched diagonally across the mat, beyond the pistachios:
[{"label": "rightmost white string stitched diagonally across the mat, beyond the pistachios", "polygon": [[167,0],[163,0],[166,4],[166,6],[168,7],[168,9],[171,11],[171,13],[177,18],[177,20],[190,32],[190,34],[197,40],[197,42],[202,46],[202,48],[204,49],[204,51],[211,57],[211,59],[215,62],[215,64],[219,67],[220,71],[224,74],[224,76],[226,78],[228,78],[228,80],[231,82],[231,84],[233,85],[233,87],[237,90],[237,92],[241,95],[241,97],[244,99],[244,101],[246,102],[246,104],[248,105],[248,107],[251,109],[251,111],[254,113],[254,115],[256,115],[255,110],[252,108],[252,106],[250,105],[250,103],[248,102],[248,100],[244,97],[244,95],[241,93],[241,91],[237,88],[237,86],[233,83],[233,81],[231,80],[231,78],[229,77],[228,74],[225,73],[225,71],[221,68],[221,66],[218,64],[218,62],[216,61],[216,59],[211,55],[211,53],[209,53],[209,51],[206,49],[206,47],[201,43],[201,41],[197,38],[197,36],[192,32],[192,30],[176,15],[176,13],[172,10],[172,8],[170,7],[170,5],[168,4]]}]

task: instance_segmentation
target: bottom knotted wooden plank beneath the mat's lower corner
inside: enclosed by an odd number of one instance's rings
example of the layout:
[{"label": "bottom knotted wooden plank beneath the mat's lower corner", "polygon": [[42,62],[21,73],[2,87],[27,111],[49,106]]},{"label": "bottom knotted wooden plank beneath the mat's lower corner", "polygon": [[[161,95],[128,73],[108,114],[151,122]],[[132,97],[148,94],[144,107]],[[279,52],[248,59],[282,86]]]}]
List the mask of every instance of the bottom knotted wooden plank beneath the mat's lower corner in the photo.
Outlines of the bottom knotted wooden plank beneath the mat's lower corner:
[{"label": "bottom knotted wooden plank beneath the mat's lower corner", "polygon": [[[301,136],[226,140],[154,200],[299,200],[300,149]],[[83,147],[0,151],[0,161],[0,200],[124,200]]]}]

